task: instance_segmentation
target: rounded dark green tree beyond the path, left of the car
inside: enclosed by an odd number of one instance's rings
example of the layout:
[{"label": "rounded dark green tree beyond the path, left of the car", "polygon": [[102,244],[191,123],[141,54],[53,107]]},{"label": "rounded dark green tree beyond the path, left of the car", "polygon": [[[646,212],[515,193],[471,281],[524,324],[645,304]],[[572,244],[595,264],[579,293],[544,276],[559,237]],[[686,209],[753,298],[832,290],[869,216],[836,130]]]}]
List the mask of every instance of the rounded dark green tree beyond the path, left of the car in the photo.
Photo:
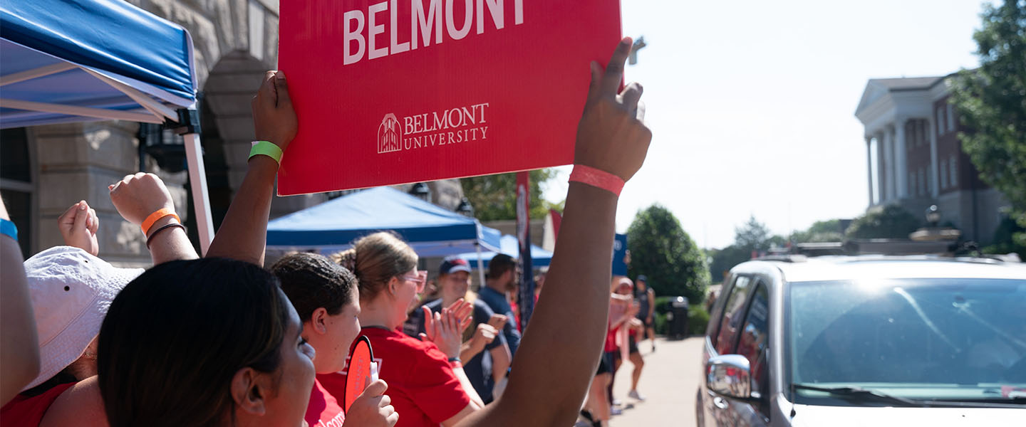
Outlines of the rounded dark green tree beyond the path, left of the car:
[{"label": "rounded dark green tree beyond the path, left of the car", "polygon": [[709,285],[705,253],[673,213],[658,204],[638,211],[627,230],[630,275],[648,276],[656,295],[680,295],[701,302]]}]

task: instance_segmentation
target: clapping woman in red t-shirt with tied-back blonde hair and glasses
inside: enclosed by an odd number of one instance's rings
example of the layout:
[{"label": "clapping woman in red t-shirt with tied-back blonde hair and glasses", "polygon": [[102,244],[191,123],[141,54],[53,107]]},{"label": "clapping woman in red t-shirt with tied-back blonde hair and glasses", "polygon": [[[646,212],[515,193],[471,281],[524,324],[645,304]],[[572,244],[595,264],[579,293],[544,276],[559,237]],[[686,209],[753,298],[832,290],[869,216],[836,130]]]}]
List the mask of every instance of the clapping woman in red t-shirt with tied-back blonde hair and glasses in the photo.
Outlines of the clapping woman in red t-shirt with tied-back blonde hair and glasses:
[{"label": "clapping woman in red t-shirt with tied-back blonde hair and glasses", "polygon": [[[427,279],[427,271],[417,270],[417,253],[395,236],[378,232],[333,258],[359,280],[360,334],[370,339],[379,378],[389,384],[389,396],[400,415],[396,426],[451,426],[483,408],[463,372],[462,328],[455,325],[457,317],[470,314],[472,306],[461,300],[441,314],[426,311],[425,318],[435,321],[429,323],[427,336],[410,338],[402,333],[402,324]],[[318,376],[334,395],[345,389],[345,373]]]}]

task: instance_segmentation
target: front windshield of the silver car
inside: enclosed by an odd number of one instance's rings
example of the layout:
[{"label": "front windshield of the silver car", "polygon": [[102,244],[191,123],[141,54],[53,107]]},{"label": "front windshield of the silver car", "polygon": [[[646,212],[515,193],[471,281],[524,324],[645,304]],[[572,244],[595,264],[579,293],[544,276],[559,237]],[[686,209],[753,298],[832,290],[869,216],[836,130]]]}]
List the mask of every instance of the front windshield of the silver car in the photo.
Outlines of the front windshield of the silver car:
[{"label": "front windshield of the silver car", "polygon": [[[923,399],[1026,395],[1026,280],[794,283],[788,298],[792,384]],[[829,394],[796,393],[798,402]]]}]

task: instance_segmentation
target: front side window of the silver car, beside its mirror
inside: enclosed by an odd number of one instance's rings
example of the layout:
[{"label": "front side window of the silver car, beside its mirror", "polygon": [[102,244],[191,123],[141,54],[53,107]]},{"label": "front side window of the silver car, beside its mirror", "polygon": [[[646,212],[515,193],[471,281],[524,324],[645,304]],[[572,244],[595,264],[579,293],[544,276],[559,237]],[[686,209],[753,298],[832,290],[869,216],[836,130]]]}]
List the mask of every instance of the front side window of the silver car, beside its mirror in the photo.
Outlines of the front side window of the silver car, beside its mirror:
[{"label": "front side window of the silver car, beside its mirror", "polygon": [[745,316],[745,328],[741,330],[738,339],[738,349],[735,351],[748,358],[751,369],[752,391],[761,396],[768,396],[768,381],[766,370],[766,348],[770,347],[770,298],[765,285],[758,282],[752,294],[752,302]]}]

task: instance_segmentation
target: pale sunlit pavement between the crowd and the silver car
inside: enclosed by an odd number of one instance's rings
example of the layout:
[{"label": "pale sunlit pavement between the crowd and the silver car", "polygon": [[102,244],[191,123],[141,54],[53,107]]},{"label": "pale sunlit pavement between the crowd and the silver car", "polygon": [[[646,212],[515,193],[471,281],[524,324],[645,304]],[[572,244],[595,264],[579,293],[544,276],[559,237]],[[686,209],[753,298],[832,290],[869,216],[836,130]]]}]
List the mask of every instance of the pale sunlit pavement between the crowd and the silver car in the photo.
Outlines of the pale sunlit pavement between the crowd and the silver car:
[{"label": "pale sunlit pavement between the crowd and the silver car", "polygon": [[645,366],[638,380],[638,392],[645,401],[627,397],[634,366],[625,361],[617,372],[614,395],[623,401],[623,415],[615,416],[610,427],[662,427],[695,425],[695,392],[702,377],[702,339],[656,340],[638,345]]}]

